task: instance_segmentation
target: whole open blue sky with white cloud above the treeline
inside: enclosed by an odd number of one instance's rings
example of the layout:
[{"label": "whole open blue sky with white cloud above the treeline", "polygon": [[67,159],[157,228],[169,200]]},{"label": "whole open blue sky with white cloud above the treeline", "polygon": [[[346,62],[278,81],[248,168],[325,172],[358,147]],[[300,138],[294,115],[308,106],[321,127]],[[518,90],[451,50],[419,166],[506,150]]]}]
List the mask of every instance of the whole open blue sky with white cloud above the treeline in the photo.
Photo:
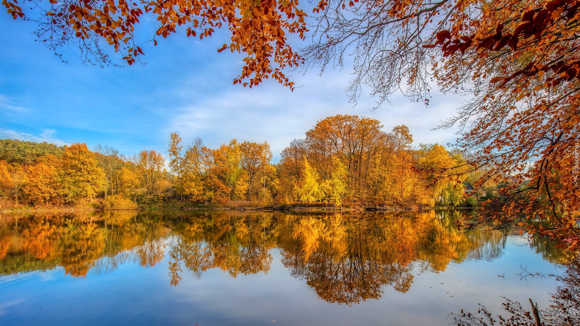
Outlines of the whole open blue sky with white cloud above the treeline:
[{"label": "whole open blue sky with white cloud above the treeline", "polygon": [[234,137],[267,140],[277,161],[280,151],[304,137],[316,121],[357,114],[379,119],[387,131],[409,126],[415,144],[455,141],[456,129],[430,129],[454,114],[459,97],[433,93],[425,107],[395,95],[371,111],[374,100],[362,96],[353,107],[344,90],[348,66],[327,69],[322,76],[316,69],[293,72],[291,79],[300,86],[294,92],[272,81],[242,88],[232,79],[240,73],[243,56],[216,51],[229,42],[226,31],[203,41],[172,35],[153,46],[144,41],[153,35],[155,23],[142,22],[137,41],[146,66],[100,68],[81,64],[75,45],[63,49],[68,63],[61,62],[34,41],[33,23],[0,14],[0,138],[108,144],[126,154],[144,148],[166,153],[169,133],[177,132],[184,142],[200,136],[209,147]]}]

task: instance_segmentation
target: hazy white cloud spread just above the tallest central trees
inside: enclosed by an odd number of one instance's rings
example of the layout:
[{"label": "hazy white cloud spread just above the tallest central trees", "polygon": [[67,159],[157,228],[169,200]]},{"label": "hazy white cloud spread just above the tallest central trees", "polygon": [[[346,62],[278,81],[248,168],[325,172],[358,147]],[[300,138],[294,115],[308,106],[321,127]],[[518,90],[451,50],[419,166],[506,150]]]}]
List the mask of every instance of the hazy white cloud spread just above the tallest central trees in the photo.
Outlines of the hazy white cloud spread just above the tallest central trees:
[{"label": "hazy white cloud spread just above the tallest central trees", "polygon": [[[441,120],[451,117],[461,106],[461,97],[435,93],[429,107],[409,102],[403,95],[390,98],[374,111],[371,96],[362,96],[358,105],[348,103],[344,88],[349,75],[343,71],[328,71],[322,77],[309,73],[293,78],[303,85],[294,92],[274,83],[264,83],[248,89],[230,86],[210,96],[191,99],[190,106],[176,108],[167,122],[166,134],[177,132],[185,143],[200,136],[206,146],[216,147],[232,138],[262,142],[267,140],[277,161],[280,151],[316,121],[336,114],[353,114],[376,118],[390,131],[394,126],[407,125],[419,143],[454,143],[455,129],[431,130]],[[185,92],[184,92],[185,93]]]}]

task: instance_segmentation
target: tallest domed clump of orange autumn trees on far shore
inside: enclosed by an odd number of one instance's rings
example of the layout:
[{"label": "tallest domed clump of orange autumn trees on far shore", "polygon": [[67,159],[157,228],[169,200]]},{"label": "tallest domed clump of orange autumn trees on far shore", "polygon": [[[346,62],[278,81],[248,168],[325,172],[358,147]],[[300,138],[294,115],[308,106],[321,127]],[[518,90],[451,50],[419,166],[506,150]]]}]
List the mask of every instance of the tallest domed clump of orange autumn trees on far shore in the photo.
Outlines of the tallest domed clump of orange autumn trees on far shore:
[{"label": "tallest domed clump of orange autumn trees on far shore", "polygon": [[[277,166],[278,200],[320,201],[335,207],[343,202],[351,206],[432,207],[432,193],[425,189],[429,182],[416,169],[419,157],[407,126],[386,132],[376,119],[327,117],[306,132],[305,140],[295,139],[282,151]],[[302,188],[313,185],[305,182],[305,173],[308,180],[316,175],[321,196],[314,191],[313,198],[305,197],[309,191]]]}]

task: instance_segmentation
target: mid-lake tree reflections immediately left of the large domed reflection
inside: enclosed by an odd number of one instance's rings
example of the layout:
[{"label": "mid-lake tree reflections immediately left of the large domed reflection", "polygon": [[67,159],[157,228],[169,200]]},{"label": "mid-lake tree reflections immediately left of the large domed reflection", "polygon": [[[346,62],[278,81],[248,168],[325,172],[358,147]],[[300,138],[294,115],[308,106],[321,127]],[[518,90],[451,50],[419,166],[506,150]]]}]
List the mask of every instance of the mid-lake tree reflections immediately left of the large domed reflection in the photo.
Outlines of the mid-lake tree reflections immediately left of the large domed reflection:
[{"label": "mid-lake tree reflections immediately left of the large domed reflection", "polygon": [[276,247],[271,214],[193,216],[176,224],[180,235],[170,242],[169,276],[179,284],[183,268],[196,278],[213,268],[238,274],[270,270],[270,250]]}]

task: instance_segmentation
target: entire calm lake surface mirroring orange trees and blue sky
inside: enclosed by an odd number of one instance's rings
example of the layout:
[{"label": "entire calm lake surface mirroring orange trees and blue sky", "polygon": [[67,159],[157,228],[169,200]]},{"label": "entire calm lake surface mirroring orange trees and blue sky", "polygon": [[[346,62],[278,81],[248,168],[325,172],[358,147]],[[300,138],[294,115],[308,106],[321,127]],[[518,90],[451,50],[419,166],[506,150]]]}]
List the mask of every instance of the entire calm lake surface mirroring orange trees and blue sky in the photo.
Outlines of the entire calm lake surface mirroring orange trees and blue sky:
[{"label": "entire calm lake surface mirroring orange trees and blue sky", "polygon": [[549,304],[554,245],[456,212],[0,215],[0,325],[448,325]]}]

